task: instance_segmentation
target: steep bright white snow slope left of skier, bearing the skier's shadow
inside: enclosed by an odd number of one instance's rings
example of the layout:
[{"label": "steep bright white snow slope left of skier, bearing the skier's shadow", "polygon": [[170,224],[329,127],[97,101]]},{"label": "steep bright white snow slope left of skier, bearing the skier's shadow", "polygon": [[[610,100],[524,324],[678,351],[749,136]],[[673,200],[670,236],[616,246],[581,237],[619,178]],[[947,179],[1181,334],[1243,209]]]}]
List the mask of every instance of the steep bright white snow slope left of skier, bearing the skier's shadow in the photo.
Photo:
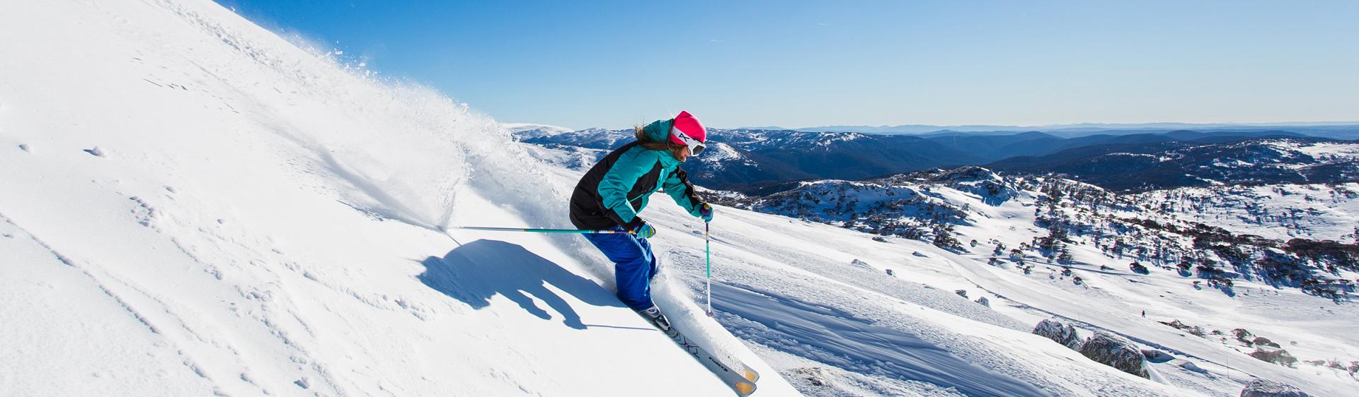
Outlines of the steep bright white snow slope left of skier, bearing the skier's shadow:
[{"label": "steep bright white snow slope left of skier, bearing the skier's shadow", "polygon": [[0,396],[730,394],[579,241],[435,229],[567,225],[462,104],[211,1],[4,1],[0,49]]}]

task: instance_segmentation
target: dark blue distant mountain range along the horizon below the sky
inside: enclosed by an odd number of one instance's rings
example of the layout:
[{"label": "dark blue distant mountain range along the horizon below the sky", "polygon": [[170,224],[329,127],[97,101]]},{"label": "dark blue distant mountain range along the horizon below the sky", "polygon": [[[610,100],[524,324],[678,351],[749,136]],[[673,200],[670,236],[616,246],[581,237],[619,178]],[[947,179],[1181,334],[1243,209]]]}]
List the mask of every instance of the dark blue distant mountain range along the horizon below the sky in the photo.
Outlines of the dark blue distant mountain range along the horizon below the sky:
[{"label": "dark blue distant mountain range along the horizon below the sky", "polygon": [[[526,144],[588,152],[579,161],[580,167],[594,163],[588,157],[598,159],[609,149],[632,141],[631,130],[567,131],[544,126],[511,130]],[[685,168],[696,183],[735,191],[764,190],[792,180],[867,179],[961,165],[1025,173],[1056,172],[1112,190],[1238,182],[1348,182],[1359,177],[1359,165],[1349,161],[1359,157],[1354,153],[1354,148],[1359,146],[1355,142],[1283,129],[1079,137],[1041,131],[885,135],[711,129],[709,140],[708,153],[694,157],[696,161]],[[1339,157],[1307,154],[1311,149],[1306,148],[1317,145],[1339,150]],[[1250,156],[1271,157],[1275,163],[1246,169],[1218,161]],[[1208,168],[1218,171],[1211,176],[1199,175]],[[1229,172],[1226,168],[1233,169]]]}]

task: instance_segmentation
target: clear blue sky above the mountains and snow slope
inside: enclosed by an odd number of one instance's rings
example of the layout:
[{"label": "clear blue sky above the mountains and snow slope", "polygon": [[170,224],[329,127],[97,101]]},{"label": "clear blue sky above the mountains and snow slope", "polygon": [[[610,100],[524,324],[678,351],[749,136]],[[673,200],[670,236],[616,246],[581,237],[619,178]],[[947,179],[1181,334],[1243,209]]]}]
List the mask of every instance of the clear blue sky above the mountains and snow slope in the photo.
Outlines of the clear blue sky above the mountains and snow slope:
[{"label": "clear blue sky above the mountains and snow slope", "polygon": [[501,122],[1359,121],[1359,1],[262,1]]}]

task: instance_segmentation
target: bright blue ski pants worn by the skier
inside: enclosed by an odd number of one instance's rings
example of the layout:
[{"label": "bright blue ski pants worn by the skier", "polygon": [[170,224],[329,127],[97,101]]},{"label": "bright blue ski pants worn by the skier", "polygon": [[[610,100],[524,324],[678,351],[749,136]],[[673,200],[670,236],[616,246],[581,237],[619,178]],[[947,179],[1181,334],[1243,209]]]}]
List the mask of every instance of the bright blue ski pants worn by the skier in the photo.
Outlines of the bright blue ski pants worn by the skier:
[{"label": "bright blue ski pants worn by the skier", "polygon": [[[622,230],[622,228],[613,228]],[[651,278],[656,276],[656,256],[647,238],[632,233],[582,234],[614,263],[618,299],[633,310],[651,308]]]}]

